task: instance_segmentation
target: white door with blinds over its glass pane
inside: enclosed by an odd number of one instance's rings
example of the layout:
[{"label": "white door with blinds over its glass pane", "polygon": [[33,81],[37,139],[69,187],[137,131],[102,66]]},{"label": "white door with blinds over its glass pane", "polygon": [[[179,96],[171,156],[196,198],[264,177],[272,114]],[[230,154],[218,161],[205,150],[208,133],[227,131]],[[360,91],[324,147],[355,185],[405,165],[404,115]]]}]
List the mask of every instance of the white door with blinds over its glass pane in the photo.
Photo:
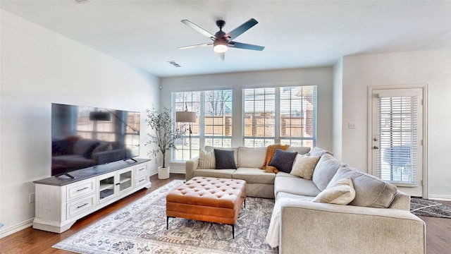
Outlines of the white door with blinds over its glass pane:
[{"label": "white door with blinds over its glass pane", "polygon": [[424,197],[424,88],[370,87],[370,172]]}]

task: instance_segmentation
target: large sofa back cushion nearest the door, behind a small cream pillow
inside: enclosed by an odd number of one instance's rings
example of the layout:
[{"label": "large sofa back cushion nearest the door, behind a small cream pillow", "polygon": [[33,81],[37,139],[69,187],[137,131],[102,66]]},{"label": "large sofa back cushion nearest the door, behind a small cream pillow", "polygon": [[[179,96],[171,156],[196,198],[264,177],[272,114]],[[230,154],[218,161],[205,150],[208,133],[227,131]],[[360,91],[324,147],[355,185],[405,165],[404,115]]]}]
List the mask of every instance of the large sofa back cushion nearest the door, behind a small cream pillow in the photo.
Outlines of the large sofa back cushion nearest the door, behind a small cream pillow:
[{"label": "large sofa back cushion nearest the door, behind a small cream pillow", "polygon": [[396,186],[347,166],[340,167],[330,183],[335,183],[348,176],[352,179],[355,189],[355,198],[350,205],[387,208],[395,198]]}]

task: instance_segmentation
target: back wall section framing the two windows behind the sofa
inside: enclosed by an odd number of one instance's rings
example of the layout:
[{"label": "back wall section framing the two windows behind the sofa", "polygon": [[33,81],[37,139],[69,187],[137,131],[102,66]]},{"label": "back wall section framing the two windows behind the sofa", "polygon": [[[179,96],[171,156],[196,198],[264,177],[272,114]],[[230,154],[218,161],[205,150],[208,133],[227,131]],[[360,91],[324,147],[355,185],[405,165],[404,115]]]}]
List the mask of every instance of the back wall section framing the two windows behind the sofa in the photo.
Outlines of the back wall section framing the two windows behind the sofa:
[{"label": "back wall section framing the two windows behind the sofa", "polygon": [[232,145],[242,145],[243,88],[275,87],[283,85],[318,86],[317,146],[332,149],[332,85],[333,68],[297,68],[279,71],[255,71],[216,75],[193,75],[161,78],[162,107],[171,108],[171,92],[233,89],[233,140]]}]

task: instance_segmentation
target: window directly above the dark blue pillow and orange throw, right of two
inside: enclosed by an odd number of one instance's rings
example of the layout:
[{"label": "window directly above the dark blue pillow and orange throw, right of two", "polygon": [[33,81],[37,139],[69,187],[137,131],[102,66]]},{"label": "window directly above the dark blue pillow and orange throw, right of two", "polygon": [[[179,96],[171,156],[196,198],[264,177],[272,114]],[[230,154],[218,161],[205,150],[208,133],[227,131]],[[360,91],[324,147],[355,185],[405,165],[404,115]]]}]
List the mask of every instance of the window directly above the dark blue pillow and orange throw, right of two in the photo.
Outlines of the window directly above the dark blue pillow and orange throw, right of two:
[{"label": "window directly above the dark blue pillow and orange throw, right of two", "polygon": [[316,86],[243,89],[244,145],[316,145]]}]

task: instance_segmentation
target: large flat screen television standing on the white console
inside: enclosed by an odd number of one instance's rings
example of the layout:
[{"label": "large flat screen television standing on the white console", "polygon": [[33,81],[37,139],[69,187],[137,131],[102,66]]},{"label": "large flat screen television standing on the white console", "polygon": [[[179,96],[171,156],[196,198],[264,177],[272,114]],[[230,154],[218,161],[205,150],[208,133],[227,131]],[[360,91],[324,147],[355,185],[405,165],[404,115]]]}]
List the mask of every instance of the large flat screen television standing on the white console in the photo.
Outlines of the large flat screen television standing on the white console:
[{"label": "large flat screen television standing on the white console", "polygon": [[140,155],[140,112],[51,104],[51,176]]}]

